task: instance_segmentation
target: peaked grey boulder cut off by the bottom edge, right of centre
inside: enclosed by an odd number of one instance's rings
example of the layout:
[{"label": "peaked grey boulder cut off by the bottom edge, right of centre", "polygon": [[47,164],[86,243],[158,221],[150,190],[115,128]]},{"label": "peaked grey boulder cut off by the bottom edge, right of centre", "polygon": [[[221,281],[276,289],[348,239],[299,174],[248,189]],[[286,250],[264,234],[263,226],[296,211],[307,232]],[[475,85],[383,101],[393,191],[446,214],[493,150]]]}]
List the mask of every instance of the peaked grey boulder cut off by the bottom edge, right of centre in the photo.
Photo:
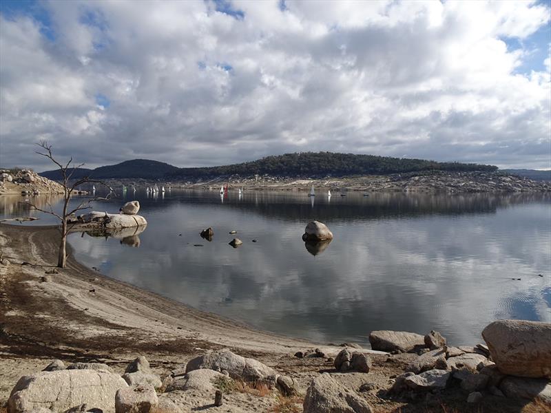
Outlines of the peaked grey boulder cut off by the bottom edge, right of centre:
[{"label": "peaked grey boulder cut off by the bottom edge, right of centre", "polygon": [[310,383],[303,407],[304,413],[373,413],[362,397],[344,388],[327,373]]}]

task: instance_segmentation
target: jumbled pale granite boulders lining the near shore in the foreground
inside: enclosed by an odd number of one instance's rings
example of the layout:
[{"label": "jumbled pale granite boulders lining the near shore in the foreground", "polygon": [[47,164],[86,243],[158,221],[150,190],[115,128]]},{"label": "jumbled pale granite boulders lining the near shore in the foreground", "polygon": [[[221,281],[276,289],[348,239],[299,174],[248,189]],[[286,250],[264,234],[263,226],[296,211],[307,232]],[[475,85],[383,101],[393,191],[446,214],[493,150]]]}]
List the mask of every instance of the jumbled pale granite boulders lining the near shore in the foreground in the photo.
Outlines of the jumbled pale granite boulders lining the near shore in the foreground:
[{"label": "jumbled pale granite boulders lining the near shore in the foreground", "polygon": [[[519,331],[525,333],[524,340]],[[370,340],[375,347],[392,349],[397,355],[418,354],[406,366],[406,372],[391,380],[391,387],[378,392],[378,397],[388,401],[414,401],[421,396],[429,401],[435,395],[444,398],[446,392],[463,392],[466,404],[498,397],[538,399],[542,405],[551,406],[550,332],[551,324],[496,321],[484,330],[488,347],[483,344],[453,347],[436,331],[425,336],[374,331]],[[366,394],[377,386],[366,382],[360,388],[351,387],[339,378],[342,374],[370,377],[368,352],[381,352],[357,347],[342,348],[335,359],[331,359],[335,370],[315,374],[302,393],[304,396],[300,396],[293,378],[230,350],[215,350],[195,357],[171,370],[164,379],[152,371],[143,356],[129,363],[122,377],[102,363],[74,363],[65,368],[62,361],[56,360],[43,372],[21,377],[12,390],[8,411],[176,413],[183,411],[178,400],[189,403],[195,397],[202,403],[214,400],[214,405],[224,405],[224,392],[242,388],[244,383],[256,383],[254,385],[264,386],[267,391],[279,392],[283,398],[300,397],[306,413],[372,413],[375,410]],[[327,356],[321,348],[302,355],[306,354],[315,358]],[[523,366],[517,366],[512,375],[508,369],[515,364]]]}]

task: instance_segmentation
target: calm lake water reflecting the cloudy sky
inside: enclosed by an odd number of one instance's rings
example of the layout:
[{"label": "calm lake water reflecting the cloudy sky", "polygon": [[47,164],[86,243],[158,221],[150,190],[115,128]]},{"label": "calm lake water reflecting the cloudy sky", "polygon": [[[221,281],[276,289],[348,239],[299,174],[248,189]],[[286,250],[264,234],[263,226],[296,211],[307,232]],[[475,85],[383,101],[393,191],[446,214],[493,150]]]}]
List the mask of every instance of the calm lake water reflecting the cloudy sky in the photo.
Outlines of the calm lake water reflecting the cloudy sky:
[{"label": "calm lake water reflecting the cloudy sky", "polygon": [[[73,234],[78,260],[264,330],[365,345],[371,330],[435,329],[464,344],[480,341],[494,319],[551,321],[551,195],[311,200],[251,191],[221,202],[216,192],[173,189],[164,199],[142,190],[94,209],[116,212],[130,199],[149,222],[139,240]],[[28,215],[19,200],[0,197],[3,215]],[[59,198],[48,202],[59,208]],[[38,216],[33,224],[54,222]],[[335,236],[317,255],[301,240],[313,219]],[[212,242],[199,236],[208,226]],[[239,248],[228,245],[235,236]]]}]

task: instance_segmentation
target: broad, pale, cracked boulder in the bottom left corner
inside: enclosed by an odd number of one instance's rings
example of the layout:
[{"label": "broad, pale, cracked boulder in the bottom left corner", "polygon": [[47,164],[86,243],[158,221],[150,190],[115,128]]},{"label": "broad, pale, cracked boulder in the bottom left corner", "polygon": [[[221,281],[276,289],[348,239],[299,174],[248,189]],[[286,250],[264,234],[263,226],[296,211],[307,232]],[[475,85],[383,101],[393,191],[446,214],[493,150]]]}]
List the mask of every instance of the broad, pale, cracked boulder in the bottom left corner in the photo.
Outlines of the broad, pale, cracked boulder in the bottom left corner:
[{"label": "broad, pale, cracked boulder in the bottom left corner", "polygon": [[127,383],[105,370],[59,370],[23,376],[10,394],[8,411],[26,412],[45,407],[64,412],[75,405],[87,405],[114,413],[115,394]]}]

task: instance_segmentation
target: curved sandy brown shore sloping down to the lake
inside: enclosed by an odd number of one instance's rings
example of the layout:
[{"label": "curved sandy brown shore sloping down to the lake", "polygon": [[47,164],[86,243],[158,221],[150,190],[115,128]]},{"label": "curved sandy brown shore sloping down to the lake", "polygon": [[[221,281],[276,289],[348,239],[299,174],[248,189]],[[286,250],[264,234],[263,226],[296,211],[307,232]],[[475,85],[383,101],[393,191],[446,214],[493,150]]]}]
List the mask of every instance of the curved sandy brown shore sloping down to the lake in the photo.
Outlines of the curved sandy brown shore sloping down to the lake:
[{"label": "curved sandy brown shore sloping down to the lake", "polygon": [[[326,357],[293,357],[321,348],[334,357],[342,348],[273,335],[202,313],[171,299],[115,281],[76,262],[54,270],[59,233],[54,226],[0,224],[0,412],[19,377],[42,370],[52,359],[66,363],[99,361],[122,373],[129,361],[145,355],[163,377],[209,349],[229,348],[253,357],[295,380],[299,396],[287,400],[277,390],[267,394],[227,394],[222,409],[209,412],[302,412],[302,398],[313,377],[331,372],[347,388],[373,383],[363,397],[375,412],[539,412],[541,405],[490,397],[472,410],[461,390],[433,398],[400,401],[380,397],[402,374],[415,354],[371,354],[369,374],[337,373]],[[370,350],[360,350],[369,352]],[[384,394],[384,393],[383,393]],[[168,397],[168,396],[167,396]],[[200,396],[169,394],[183,412],[211,403]]]}]

